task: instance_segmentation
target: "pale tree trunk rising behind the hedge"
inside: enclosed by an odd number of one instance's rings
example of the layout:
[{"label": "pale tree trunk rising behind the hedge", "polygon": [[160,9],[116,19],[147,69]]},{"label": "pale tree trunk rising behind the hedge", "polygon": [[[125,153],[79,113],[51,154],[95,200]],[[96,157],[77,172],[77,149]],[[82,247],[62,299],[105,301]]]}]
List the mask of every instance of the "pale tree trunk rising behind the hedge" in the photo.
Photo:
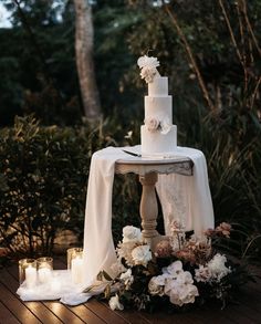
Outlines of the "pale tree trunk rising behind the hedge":
[{"label": "pale tree trunk rising behind the hedge", "polygon": [[74,0],[75,55],[84,114],[88,119],[101,116],[101,105],[93,62],[93,20],[87,0]]}]

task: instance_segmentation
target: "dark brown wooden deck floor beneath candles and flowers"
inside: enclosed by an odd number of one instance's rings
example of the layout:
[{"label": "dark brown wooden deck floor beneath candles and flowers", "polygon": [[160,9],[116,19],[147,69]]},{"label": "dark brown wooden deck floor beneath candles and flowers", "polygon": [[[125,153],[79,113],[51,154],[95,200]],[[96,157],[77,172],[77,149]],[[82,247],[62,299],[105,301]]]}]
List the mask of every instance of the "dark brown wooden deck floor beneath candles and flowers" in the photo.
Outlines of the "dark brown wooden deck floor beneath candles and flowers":
[{"label": "dark brown wooden deck floor beneath candles and flowers", "polygon": [[[58,261],[56,269],[65,264]],[[138,312],[113,312],[105,303],[95,300],[84,305],[70,307],[59,302],[22,302],[15,294],[18,289],[18,265],[0,269],[0,323],[3,324],[197,324],[241,323],[261,324],[261,281],[249,284],[239,296],[240,303],[221,311],[220,305],[191,311],[184,314],[147,314]]]}]

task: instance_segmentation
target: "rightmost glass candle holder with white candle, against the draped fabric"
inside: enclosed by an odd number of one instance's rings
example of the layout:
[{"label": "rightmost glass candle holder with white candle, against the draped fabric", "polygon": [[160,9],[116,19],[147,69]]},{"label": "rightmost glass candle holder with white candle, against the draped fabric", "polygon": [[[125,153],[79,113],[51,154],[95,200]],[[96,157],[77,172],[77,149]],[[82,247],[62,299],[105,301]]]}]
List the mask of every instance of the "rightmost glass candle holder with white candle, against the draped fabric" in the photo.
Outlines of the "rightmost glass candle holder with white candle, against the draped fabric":
[{"label": "rightmost glass candle holder with white candle, against the draped fabric", "polygon": [[83,248],[67,250],[67,269],[71,270],[74,284],[83,282]]}]

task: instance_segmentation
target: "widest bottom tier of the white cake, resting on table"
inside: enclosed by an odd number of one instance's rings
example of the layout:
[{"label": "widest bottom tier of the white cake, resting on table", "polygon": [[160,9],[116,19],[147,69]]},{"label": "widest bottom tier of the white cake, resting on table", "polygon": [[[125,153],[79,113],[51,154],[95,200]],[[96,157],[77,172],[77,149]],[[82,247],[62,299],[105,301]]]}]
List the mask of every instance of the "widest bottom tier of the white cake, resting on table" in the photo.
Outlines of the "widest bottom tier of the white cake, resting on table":
[{"label": "widest bottom tier of the white cake, resting on table", "polygon": [[145,125],[140,127],[142,154],[171,153],[177,147],[177,126],[173,125],[167,134],[149,132]]}]

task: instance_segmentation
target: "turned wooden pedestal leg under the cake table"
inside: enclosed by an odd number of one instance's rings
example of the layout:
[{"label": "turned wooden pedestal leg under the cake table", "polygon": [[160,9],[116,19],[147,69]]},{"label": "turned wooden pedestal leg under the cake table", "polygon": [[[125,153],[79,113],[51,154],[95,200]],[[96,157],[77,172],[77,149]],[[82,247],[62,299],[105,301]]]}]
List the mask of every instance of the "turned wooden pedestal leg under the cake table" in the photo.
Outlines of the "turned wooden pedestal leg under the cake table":
[{"label": "turned wooden pedestal leg under the cake table", "polygon": [[153,239],[158,237],[156,231],[158,205],[155,191],[155,184],[158,180],[156,173],[139,176],[139,181],[143,185],[143,194],[139,206],[142,217],[143,237],[152,245]]}]

